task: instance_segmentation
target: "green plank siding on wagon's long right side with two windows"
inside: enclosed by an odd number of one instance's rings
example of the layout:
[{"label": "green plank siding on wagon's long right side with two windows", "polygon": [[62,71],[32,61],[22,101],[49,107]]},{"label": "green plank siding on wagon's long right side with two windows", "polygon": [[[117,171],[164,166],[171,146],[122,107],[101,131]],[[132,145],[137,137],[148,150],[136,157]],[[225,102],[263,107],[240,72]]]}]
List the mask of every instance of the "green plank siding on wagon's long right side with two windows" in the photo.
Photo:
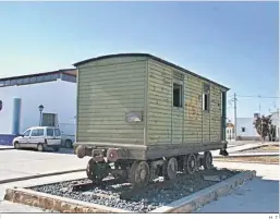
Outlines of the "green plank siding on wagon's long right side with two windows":
[{"label": "green plank siding on wagon's long right side with two windows", "polygon": [[[183,75],[183,108],[173,108],[178,73]],[[155,60],[148,61],[148,82],[149,146],[220,142],[220,87]],[[203,110],[204,83],[210,85],[209,111]]]}]

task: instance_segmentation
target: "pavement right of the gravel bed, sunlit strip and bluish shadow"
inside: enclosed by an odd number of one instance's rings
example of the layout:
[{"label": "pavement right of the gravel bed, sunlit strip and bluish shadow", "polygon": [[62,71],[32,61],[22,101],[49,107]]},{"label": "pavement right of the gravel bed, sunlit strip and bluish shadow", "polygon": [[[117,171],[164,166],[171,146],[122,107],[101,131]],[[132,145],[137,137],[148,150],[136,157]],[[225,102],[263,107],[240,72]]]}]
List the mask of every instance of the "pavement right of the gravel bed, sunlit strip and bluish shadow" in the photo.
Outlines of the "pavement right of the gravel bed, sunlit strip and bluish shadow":
[{"label": "pavement right of the gravel bed, sunlit strip and bluish shadow", "polygon": [[279,212],[279,166],[215,161],[218,168],[256,170],[257,177],[196,212]]}]

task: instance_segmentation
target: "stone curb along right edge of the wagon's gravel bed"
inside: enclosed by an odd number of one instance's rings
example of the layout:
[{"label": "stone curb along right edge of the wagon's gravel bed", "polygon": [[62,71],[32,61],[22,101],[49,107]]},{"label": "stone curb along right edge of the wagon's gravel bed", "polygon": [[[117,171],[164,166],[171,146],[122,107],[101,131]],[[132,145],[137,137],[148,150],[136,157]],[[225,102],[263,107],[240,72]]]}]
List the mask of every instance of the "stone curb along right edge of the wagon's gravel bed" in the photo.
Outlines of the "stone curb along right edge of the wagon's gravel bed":
[{"label": "stone curb along right edge of the wagon's gravel bed", "polygon": [[240,186],[245,181],[252,180],[255,175],[255,170],[241,172],[226,181],[175,200],[168,206],[157,208],[150,212],[192,212],[211,200],[217,200],[219,197],[229,194],[233,188]]}]

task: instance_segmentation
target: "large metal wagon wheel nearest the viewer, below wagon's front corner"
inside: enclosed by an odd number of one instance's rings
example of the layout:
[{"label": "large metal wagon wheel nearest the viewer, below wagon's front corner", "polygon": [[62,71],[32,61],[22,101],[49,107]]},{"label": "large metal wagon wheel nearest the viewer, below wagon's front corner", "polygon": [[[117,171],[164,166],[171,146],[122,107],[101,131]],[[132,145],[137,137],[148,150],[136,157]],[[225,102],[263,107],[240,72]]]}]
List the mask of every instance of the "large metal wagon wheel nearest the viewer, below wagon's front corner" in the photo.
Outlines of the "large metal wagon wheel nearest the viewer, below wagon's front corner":
[{"label": "large metal wagon wheel nearest the viewer, below wagon's front corner", "polygon": [[150,170],[146,161],[134,161],[130,168],[129,182],[133,187],[145,187],[149,183]]}]

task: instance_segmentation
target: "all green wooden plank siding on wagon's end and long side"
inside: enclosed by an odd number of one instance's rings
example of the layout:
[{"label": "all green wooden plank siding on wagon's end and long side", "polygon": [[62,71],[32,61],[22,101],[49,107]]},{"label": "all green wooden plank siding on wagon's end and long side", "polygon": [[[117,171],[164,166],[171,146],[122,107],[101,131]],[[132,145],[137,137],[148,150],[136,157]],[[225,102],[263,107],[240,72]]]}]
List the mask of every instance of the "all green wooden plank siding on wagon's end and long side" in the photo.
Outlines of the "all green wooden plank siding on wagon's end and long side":
[{"label": "all green wooden plank siding on wagon's end and long side", "polygon": [[[154,147],[219,143],[221,87],[179,69],[144,57],[80,65],[76,141]],[[183,86],[182,107],[173,107],[178,81]],[[205,83],[210,85],[209,111],[203,110]],[[127,122],[127,112],[142,112],[143,121]]]}]

